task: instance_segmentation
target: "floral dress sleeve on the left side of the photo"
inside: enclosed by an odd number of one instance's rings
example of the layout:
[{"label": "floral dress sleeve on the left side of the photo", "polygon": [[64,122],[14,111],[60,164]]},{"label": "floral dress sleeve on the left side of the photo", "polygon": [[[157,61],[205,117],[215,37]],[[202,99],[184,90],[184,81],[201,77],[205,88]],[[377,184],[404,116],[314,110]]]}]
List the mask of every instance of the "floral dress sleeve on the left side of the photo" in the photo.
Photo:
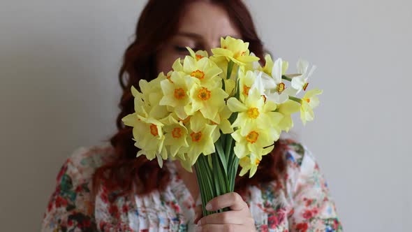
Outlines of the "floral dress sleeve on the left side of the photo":
[{"label": "floral dress sleeve on the left side of the photo", "polygon": [[91,176],[85,175],[84,169],[79,166],[87,166],[82,159],[85,152],[84,148],[80,148],[61,167],[41,231],[97,231],[90,192]]}]

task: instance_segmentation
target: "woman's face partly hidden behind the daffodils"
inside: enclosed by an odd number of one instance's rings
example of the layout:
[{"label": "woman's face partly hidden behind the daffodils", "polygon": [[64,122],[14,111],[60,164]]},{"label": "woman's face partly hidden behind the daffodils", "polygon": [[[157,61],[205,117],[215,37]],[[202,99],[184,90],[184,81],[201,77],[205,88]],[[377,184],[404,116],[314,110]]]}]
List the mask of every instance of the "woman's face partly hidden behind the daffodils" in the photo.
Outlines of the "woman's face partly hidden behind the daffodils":
[{"label": "woman's face partly hidden behind the daffodils", "polygon": [[158,73],[168,73],[173,62],[189,55],[192,50],[207,50],[220,46],[220,38],[232,36],[240,38],[240,32],[230,21],[226,10],[207,2],[194,2],[187,6],[180,20],[177,34],[172,36],[156,54]]}]

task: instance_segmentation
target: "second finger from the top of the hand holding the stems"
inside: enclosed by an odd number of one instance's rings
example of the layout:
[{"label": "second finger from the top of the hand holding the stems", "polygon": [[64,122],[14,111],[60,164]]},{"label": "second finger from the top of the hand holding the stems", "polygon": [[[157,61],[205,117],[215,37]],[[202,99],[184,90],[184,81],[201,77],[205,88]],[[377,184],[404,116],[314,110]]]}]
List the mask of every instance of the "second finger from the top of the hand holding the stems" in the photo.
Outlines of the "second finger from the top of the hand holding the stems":
[{"label": "second finger from the top of the hand holding the stems", "polygon": [[227,211],[218,212],[212,215],[207,215],[198,221],[198,225],[206,224],[237,224],[249,225],[255,224],[253,218],[245,216],[242,211]]}]

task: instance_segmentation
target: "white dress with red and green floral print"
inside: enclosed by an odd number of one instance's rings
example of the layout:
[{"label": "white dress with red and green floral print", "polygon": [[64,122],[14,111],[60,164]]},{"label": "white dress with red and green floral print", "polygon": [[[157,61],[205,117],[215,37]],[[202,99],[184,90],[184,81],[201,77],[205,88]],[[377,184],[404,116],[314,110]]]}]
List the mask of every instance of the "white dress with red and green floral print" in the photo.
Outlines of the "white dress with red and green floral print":
[{"label": "white dress with red and green floral print", "polygon": [[[242,196],[255,220],[256,231],[342,231],[328,185],[312,154],[287,140],[284,186],[274,182],[249,187]],[[165,161],[171,180],[163,191],[147,196],[108,199],[104,184],[91,196],[91,177],[114,156],[109,144],[80,148],[67,159],[57,175],[57,186],[43,218],[42,231],[194,231],[195,201]],[[279,189],[279,190],[276,190]]]}]

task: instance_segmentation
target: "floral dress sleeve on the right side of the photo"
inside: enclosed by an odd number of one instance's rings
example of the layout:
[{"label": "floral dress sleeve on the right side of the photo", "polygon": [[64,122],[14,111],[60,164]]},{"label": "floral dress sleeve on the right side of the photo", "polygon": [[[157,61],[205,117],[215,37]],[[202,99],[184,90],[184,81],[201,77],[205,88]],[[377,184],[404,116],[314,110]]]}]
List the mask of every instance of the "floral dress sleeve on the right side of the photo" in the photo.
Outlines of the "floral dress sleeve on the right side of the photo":
[{"label": "floral dress sleeve on the right side of the photo", "polygon": [[290,231],[342,231],[325,178],[312,154],[305,148],[293,189]]}]

